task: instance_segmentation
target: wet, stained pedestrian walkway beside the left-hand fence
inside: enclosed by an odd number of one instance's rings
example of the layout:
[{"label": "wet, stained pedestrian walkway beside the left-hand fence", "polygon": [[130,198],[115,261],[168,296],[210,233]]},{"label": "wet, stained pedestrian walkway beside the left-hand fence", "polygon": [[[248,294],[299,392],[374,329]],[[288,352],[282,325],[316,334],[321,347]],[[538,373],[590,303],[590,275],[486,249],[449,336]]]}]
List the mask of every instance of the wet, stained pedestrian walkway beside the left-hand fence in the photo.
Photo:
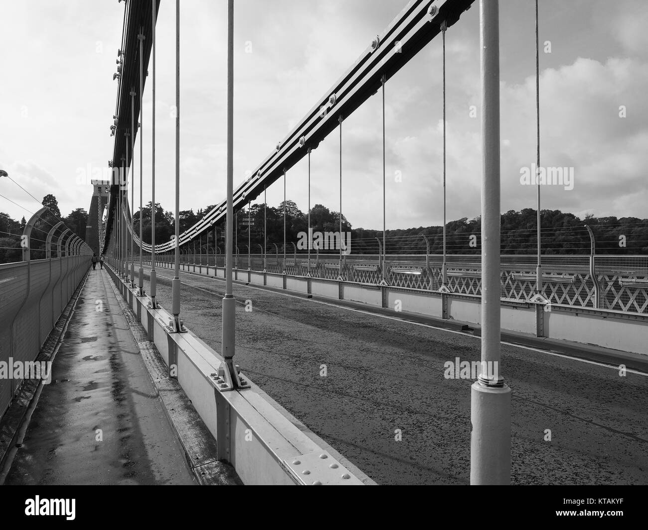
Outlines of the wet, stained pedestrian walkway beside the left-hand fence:
[{"label": "wet, stained pedestrian walkway beside the left-hand fence", "polygon": [[89,271],[5,483],[195,483],[105,270]]}]

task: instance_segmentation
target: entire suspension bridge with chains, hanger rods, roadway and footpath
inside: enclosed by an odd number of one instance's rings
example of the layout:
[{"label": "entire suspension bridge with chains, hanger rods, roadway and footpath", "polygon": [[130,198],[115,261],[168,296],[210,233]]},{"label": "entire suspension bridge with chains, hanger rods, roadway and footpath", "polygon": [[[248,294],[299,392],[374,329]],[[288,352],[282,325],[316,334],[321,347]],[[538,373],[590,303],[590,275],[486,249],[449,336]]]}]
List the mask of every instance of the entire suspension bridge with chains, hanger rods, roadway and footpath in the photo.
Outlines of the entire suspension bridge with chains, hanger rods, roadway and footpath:
[{"label": "entire suspension bridge with chains, hanger rods, roadway and footpath", "polygon": [[[410,1],[235,186],[229,0],[227,186],[181,230],[179,196],[197,190],[181,171],[176,0],[176,54],[164,58],[176,61],[174,235],[159,241],[156,186],[168,186],[156,182],[160,1],[127,1],[109,177],[89,182],[85,237],[43,206],[18,234],[21,260],[0,264],[5,374],[29,363],[47,372],[37,378],[21,368],[19,377],[0,379],[0,479],[645,483],[648,256],[601,252],[610,245],[596,226],[543,229],[539,180],[537,246],[502,250],[520,231],[500,230],[498,5]],[[480,18],[480,230],[446,234],[445,42],[469,9]],[[389,236],[386,87],[438,40],[443,230]],[[143,127],[147,82],[150,131]],[[378,93],[382,234],[348,239],[343,214],[354,199],[344,193],[343,127]],[[314,236],[311,155],[325,138],[338,141],[339,203],[330,204],[338,208],[336,226]],[[143,142],[152,145],[150,190],[143,188]],[[291,240],[286,175],[302,160],[306,230]],[[0,184],[10,180],[0,174]],[[271,187],[283,190],[283,238],[268,237]],[[153,220],[150,237],[144,215]],[[253,227],[262,243],[252,243]],[[553,251],[575,233],[579,248]]]}]

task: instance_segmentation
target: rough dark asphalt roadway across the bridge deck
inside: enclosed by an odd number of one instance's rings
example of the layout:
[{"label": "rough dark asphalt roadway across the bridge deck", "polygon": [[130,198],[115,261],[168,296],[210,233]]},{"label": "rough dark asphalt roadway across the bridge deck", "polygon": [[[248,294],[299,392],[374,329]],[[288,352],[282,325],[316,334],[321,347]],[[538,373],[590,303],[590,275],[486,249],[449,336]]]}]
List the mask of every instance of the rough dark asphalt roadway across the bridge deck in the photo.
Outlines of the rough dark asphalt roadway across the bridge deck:
[{"label": "rough dark asphalt roadway across the bridge deck", "polygon": [[[173,272],[157,271],[170,309]],[[220,351],[224,281],[181,280],[181,318]],[[479,360],[478,338],[244,285],[234,294],[235,362],[373,480],[469,483],[472,381],[446,379],[444,364]],[[648,377],[506,345],[502,364],[513,483],[648,483]]]}]

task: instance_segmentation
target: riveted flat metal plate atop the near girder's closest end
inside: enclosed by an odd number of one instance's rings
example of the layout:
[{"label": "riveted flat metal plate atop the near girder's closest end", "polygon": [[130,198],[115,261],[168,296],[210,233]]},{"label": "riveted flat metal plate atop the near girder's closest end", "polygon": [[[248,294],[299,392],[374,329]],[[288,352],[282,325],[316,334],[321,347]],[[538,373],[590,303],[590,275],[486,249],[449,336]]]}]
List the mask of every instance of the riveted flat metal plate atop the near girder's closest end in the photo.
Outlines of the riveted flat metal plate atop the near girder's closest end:
[{"label": "riveted flat metal plate atop the near girder's closest end", "polygon": [[304,486],[362,485],[362,481],[326,451],[300,454],[283,461],[293,479]]}]

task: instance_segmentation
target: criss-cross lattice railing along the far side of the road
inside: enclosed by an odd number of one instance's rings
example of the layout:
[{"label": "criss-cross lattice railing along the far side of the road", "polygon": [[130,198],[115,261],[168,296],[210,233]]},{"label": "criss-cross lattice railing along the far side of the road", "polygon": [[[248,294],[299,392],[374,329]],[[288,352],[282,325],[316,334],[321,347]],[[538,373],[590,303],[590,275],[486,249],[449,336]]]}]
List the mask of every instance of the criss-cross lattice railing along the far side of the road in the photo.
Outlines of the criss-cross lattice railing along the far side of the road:
[{"label": "criss-cross lattice railing along the far side of the road", "polygon": [[[376,255],[346,256],[345,261],[333,261],[326,254],[311,255],[310,269],[306,254],[297,254],[284,261],[274,254],[249,254],[251,271],[304,276],[312,278],[379,285],[382,282],[380,258]],[[203,267],[224,267],[222,254],[183,254],[182,263]],[[265,261],[264,261],[265,258]],[[548,255],[542,257],[543,293],[551,304],[610,309],[627,313],[648,314],[648,256],[593,256],[594,274],[599,285],[596,296],[590,274],[590,256]],[[165,258],[164,254],[158,259]],[[456,294],[481,294],[481,263],[476,254],[448,256],[448,288]],[[502,298],[526,302],[535,294],[536,256],[502,256]],[[427,263],[427,264],[426,264]],[[437,291],[441,287],[442,258],[437,255],[399,254],[386,261],[386,283],[391,287]],[[238,269],[248,269],[248,254],[238,254]],[[597,300],[598,298],[598,300]]]}]

